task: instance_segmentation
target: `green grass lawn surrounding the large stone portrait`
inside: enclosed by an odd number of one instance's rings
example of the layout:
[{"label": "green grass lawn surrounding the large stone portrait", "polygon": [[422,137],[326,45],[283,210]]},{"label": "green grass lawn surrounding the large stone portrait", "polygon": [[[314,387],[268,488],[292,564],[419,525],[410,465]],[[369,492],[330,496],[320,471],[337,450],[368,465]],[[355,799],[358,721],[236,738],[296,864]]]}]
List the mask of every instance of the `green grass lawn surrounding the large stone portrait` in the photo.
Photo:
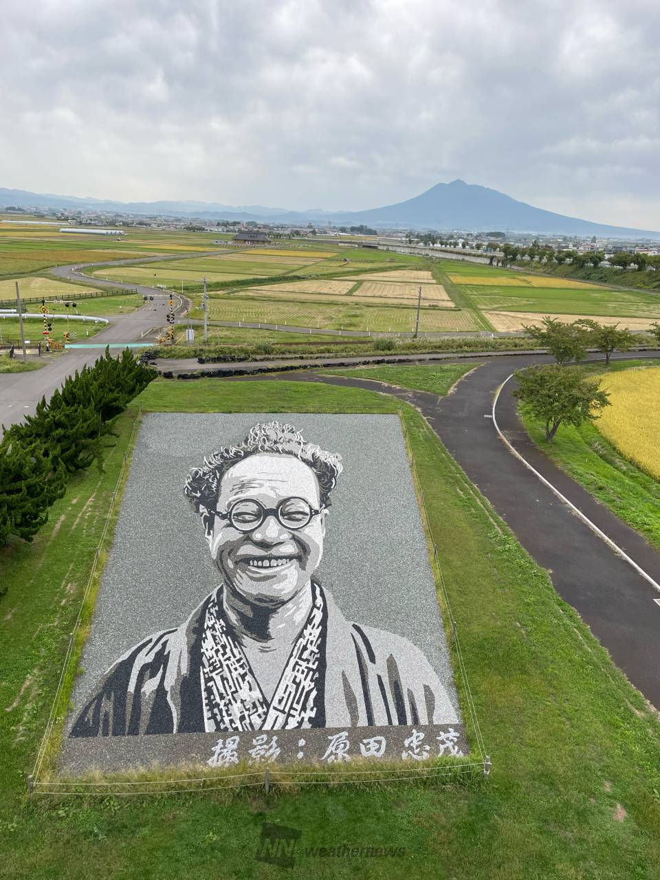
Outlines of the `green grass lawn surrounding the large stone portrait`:
[{"label": "green grass lawn surrounding the large stone portrait", "polygon": [[[396,412],[406,420],[429,526],[488,752],[481,785],[259,789],[116,798],[26,796],[68,634],[103,527],[132,414],[105,473],[72,477],[32,545],[0,548],[0,876],[275,877],[254,862],[264,821],[301,846],[398,846],[400,858],[299,855],[287,876],[657,876],[656,715],[561,601],[412,407],[384,394],[280,381],[157,381],[147,410]],[[464,704],[465,708],[465,704]]]}]

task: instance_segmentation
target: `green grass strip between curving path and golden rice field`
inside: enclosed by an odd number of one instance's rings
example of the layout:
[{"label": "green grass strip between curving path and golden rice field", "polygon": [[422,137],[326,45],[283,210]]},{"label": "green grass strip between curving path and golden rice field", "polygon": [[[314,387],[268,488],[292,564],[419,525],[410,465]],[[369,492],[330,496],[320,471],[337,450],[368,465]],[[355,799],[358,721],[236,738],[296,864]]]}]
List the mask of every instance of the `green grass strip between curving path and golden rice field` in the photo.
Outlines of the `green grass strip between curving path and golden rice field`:
[{"label": "green grass strip between curving path and golden rice field", "polygon": [[[610,370],[593,364],[589,372],[656,366],[656,361],[612,362]],[[569,473],[625,523],[660,549],[660,483],[624,458],[598,431],[598,421],[579,428],[562,425],[553,443],[546,442],[545,427],[522,415],[524,427],[539,449]]]}]

